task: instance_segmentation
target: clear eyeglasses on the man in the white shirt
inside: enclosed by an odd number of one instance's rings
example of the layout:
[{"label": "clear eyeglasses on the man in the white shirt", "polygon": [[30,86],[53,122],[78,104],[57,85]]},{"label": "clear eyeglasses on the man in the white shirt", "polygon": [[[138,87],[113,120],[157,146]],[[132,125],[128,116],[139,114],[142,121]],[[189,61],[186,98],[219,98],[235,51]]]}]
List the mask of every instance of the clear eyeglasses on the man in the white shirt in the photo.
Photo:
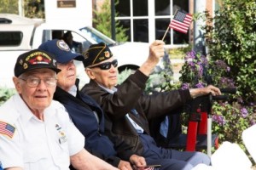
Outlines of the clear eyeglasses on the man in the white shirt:
[{"label": "clear eyeglasses on the man in the white shirt", "polygon": [[28,77],[28,78],[20,78],[20,80],[23,80],[26,82],[26,84],[31,87],[35,88],[38,87],[38,85],[41,83],[41,80],[44,81],[44,84],[47,87],[54,87],[57,83],[57,79],[55,77],[47,77],[44,79],[38,78],[38,77]]}]

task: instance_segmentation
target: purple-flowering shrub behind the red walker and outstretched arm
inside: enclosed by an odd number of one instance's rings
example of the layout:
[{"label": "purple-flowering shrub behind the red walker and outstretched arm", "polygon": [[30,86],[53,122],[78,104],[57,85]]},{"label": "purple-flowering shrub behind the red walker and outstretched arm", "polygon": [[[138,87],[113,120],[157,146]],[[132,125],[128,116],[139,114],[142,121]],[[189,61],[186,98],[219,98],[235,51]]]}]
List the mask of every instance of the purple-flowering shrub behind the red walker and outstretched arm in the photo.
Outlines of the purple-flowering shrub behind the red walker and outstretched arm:
[{"label": "purple-flowering shrub behind the red walker and outstretched arm", "polygon": [[[236,83],[230,78],[230,66],[224,61],[211,61],[195,51],[188,52],[184,61],[180,71],[181,88],[202,88],[207,84],[218,88],[236,88]],[[218,133],[220,143],[227,140],[244,148],[241,132],[255,123],[256,107],[253,103],[245,105],[237,94],[229,97],[229,101],[214,101],[212,104],[212,133]]]}]

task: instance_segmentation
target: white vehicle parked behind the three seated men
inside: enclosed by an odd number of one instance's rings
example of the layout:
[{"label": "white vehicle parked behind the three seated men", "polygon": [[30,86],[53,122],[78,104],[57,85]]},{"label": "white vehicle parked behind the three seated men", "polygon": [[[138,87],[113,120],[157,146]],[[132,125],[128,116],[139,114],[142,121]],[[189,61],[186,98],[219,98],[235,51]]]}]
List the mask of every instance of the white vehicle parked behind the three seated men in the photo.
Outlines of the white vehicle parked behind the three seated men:
[{"label": "white vehicle parked behind the three seated men", "polygon": [[[63,35],[71,31],[73,41],[80,44],[80,48],[74,49],[76,53],[82,53],[91,44],[107,43],[115,58],[119,60],[119,72],[126,68],[136,70],[148,58],[149,44],[146,42],[115,42],[90,26],[79,23],[74,26],[67,23],[66,21],[49,24],[43,20],[32,20],[15,14],[0,14],[0,56],[4,57],[1,59],[0,88],[14,88],[12,77],[17,57],[26,51],[38,48],[42,42],[55,38],[55,32]],[[164,68],[164,60],[169,61],[167,54],[156,67],[156,72]],[[85,75],[81,62],[77,62],[76,65],[78,77],[83,85],[89,81],[89,78]]]}]

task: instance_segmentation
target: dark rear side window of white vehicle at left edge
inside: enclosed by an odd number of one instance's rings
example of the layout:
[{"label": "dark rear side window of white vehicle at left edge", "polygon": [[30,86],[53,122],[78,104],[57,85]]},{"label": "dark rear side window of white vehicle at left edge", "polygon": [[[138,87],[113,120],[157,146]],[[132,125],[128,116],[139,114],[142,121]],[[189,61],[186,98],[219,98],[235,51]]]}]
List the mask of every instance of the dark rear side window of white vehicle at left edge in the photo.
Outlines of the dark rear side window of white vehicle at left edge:
[{"label": "dark rear side window of white vehicle at left edge", "polygon": [[22,37],[21,31],[0,31],[0,46],[19,46]]}]

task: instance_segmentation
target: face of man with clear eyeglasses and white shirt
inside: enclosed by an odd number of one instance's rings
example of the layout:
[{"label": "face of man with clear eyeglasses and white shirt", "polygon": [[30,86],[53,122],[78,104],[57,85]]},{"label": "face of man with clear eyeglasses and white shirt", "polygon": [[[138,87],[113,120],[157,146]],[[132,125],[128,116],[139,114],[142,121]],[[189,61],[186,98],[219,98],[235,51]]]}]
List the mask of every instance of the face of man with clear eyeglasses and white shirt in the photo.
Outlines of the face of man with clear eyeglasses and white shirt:
[{"label": "face of man with clear eyeglasses and white shirt", "polygon": [[50,105],[56,88],[55,71],[36,69],[13,80],[17,92],[32,112],[44,111]]}]

